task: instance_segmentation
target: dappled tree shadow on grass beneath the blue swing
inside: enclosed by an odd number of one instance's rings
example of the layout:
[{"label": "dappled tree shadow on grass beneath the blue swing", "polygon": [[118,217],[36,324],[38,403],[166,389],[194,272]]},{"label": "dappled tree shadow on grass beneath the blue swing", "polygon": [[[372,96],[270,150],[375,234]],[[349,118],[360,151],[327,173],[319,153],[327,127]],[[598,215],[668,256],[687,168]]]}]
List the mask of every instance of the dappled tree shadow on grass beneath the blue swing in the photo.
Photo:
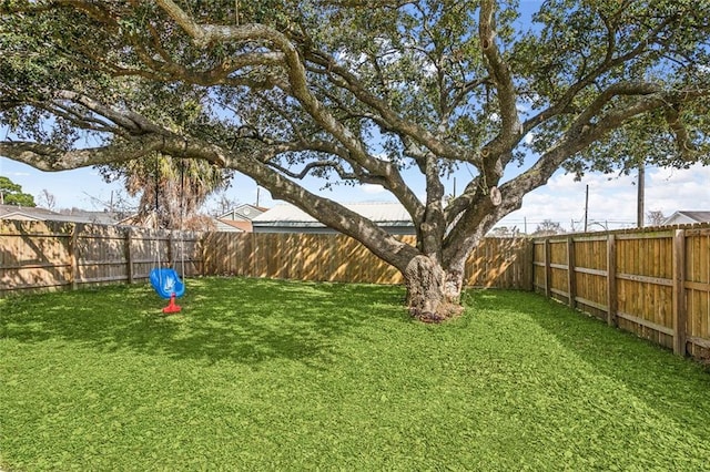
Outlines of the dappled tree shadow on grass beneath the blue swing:
[{"label": "dappled tree shadow on grass beneath the blue swing", "polygon": [[186,286],[182,312],[170,316],[162,315],[166,302],[149,286],[11,298],[1,301],[0,336],[209,362],[321,362],[357,326],[406,319],[399,287],[240,278],[190,279]]}]

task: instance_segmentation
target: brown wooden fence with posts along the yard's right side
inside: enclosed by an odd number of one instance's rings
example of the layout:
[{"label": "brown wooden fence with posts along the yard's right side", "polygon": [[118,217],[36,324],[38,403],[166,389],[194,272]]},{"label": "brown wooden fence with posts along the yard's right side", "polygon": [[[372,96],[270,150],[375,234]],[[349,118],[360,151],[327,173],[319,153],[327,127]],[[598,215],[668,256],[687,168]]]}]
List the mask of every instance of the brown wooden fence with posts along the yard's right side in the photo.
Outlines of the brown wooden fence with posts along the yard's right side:
[{"label": "brown wooden fence with posts along the yard's right side", "polygon": [[710,358],[710,225],[535,239],[534,266],[537,291]]}]

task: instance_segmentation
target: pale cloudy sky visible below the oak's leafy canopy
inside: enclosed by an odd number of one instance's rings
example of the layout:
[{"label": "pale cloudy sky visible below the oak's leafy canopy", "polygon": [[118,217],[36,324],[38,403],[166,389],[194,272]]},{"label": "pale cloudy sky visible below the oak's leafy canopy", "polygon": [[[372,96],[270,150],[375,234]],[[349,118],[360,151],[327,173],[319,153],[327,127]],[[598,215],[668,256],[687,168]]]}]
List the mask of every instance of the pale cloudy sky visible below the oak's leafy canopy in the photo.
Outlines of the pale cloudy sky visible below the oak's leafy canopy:
[{"label": "pale cloudy sky visible below the oak's leafy canopy", "polygon": [[[28,165],[0,157],[0,175],[9,177],[22,186],[22,191],[37,197],[47,189],[54,195],[57,208],[103,209],[98,201],[109,202],[112,196],[125,192],[118,183],[106,184],[93,168],[48,173]],[[456,174],[456,185],[460,189],[469,177],[467,171]],[[580,182],[572,175],[558,172],[542,188],[528,194],[523,208],[510,214],[499,225],[517,226],[528,232],[545,219],[560,223],[567,229],[571,222],[581,228],[585,214],[585,192],[589,185],[590,229],[631,227],[636,222],[636,175],[617,176],[590,174]],[[415,189],[423,197],[423,186],[415,182]],[[372,185],[338,186],[334,189],[320,189],[321,185],[311,182],[311,191],[323,194],[342,203],[387,202],[393,197],[381,187]],[[447,192],[454,189],[453,177],[446,181]],[[256,203],[256,183],[243,175],[236,175],[226,196],[240,203]],[[261,189],[260,204],[272,206],[274,201],[268,192]],[[646,211],[660,211],[669,216],[676,211],[710,211],[710,166],[696,165],[687,171],[649,167],[646,173]]]}]

